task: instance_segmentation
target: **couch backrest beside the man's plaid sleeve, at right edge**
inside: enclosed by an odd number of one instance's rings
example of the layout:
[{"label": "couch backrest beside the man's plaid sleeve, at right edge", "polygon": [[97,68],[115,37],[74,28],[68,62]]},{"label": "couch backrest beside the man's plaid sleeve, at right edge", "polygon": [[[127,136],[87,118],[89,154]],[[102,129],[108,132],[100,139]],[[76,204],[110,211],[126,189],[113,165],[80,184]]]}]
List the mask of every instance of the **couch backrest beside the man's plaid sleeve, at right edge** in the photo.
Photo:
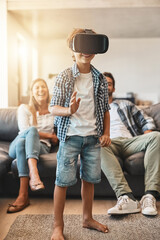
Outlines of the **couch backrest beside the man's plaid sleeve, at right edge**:
[{"label": "couch backrest beside the man's plaid sleeve, at right edge", "polygon": [[153,118],[157,130],[160,131],[160,103],[151,105],[143,110],[148,116]]}]

